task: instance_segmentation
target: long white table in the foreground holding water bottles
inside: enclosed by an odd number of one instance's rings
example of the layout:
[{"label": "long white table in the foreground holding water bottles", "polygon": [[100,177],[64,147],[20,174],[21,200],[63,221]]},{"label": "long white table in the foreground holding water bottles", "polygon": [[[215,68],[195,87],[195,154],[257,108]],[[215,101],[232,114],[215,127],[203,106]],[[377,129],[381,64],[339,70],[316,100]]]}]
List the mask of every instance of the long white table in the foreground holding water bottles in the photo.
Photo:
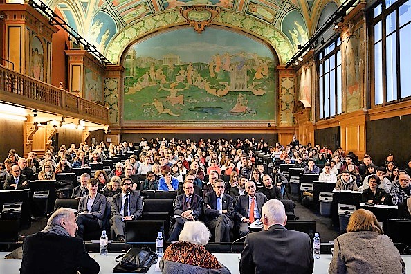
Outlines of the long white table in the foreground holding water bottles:
[{"label": "long white table in the foreground holding water bottles", "polygon": [[[1,273],[18,274],[21,261],[19,259],[4,259],[7,252],[0,252],[0,270]],[[109,253],[107,256],[102,256],[99,253],[90,253],[90,256],[100,264],[100,274],[113,273],[113,268],[116,266],[115,258],[122,253]],[[241,254],[239,253],[214,253],[215,257],[227,266],[232,274],[239,273],[239,259]],[[408,271],[411,270],[411,255],[401,255],[405,262],[405,266]],[[315,274],[328,273],[329,264],[331,262],[331,255],[322,254],[320,259],[314,261]],[[147,273],[161,273],[156,271],[156,265],[153,265]]]}]

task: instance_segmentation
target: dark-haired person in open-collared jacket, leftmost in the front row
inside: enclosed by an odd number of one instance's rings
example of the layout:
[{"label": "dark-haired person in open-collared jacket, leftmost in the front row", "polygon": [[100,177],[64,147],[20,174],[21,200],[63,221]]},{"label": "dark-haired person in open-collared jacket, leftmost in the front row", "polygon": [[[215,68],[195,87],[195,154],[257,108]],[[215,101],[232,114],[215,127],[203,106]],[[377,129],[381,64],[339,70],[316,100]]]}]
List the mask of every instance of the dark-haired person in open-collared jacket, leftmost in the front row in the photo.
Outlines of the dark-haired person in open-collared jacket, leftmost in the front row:
[{"label": "dark-haired person in open-collared jacket, leftmost in the front row", "polygon": [[106,197],[98,193],[98,179],[91,178],[87,182],[89,195],[82,197],[78,203],[77,236],[83,237],[84,230],[101,232],[104,212],[106,211]]}]

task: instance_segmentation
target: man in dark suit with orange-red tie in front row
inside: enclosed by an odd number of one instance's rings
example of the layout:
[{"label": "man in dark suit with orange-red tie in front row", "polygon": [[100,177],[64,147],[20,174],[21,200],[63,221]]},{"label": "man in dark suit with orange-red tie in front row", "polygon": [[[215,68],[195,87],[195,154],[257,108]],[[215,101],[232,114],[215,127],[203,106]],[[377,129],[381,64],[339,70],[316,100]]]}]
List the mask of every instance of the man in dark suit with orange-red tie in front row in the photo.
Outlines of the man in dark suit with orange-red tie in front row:
[{"label": "man in dark suit with orange-red tie in front row", "polygon": [[246,195],[238,197],[235,203],[235,216],[239,221],[239,237],[244,237],[250,233],[248,226],[261,218],[261,209],[267,201],[267,197],[262,193],[255,192],[255,183],[246,183]]}]

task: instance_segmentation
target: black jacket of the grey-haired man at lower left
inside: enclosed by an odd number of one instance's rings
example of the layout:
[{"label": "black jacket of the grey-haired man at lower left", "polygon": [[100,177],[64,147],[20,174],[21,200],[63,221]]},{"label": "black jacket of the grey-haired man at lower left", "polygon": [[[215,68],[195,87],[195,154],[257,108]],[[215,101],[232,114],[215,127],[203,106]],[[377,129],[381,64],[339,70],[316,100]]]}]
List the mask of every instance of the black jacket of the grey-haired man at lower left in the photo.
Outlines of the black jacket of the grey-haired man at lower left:
[{"label": "black jacket of the grey-haired man at lower left", "polygon": [[80,238],[38,232],[24,239],[23,253],[21,274],[71,274],[76,271],[94,274],[100,271]]}]

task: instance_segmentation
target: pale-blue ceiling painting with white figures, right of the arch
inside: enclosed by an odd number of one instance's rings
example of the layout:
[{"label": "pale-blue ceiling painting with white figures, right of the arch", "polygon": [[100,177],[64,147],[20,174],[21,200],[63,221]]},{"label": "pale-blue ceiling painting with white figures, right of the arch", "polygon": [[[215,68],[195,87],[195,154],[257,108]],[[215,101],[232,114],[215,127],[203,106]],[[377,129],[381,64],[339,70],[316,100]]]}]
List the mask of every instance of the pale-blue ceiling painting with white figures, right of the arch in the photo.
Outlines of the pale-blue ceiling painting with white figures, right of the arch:
[{"label": "pale-blue ceiling painting with white figures, right of the arch", "polygon": [[308,41],[308,31],[304,19],[298,10],[293,10],[284,17],[281,30],[289,37],[295,50],[297,50],[297,45],[304,45]]}]

